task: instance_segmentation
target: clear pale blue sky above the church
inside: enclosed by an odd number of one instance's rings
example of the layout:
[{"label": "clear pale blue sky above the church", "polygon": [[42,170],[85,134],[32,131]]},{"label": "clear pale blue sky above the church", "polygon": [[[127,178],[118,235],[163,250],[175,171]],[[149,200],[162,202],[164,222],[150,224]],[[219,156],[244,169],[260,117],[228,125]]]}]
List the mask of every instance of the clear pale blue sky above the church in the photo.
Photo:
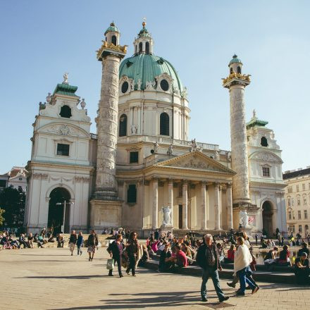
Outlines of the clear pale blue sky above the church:
[{"label": "clear pale blue sky above the church", "polygon": [[247,120],[253,109],[283,150],[283,171],[310,165],[310,1],[0,0],[0,174],[30,160],[32,123],[48,92],[69,73],[85,98],[92,132],[101,87],[95,51],[113,20],[120,43],[147,18],[154,54],[170,61],[188,89],[189,138],[230,149],[228,89],[221,78],[237,54]]}]

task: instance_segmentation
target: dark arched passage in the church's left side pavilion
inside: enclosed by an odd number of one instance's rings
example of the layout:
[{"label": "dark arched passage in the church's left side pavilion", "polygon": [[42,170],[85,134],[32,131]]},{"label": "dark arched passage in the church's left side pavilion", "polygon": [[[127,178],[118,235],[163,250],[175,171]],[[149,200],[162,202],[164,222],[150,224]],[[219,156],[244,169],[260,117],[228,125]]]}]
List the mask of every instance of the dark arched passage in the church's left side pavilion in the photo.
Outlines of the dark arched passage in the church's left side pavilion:
[{"label": "dark arched passage in the church's left side pavilion", "polygon": [[[65,228],[63,233],[70,233],[70,193],[66,188],[56,187],[49,194],[48,228],[54,230],[54,235],[61,233],[63,211],[65,211]],[[65,206],[66,202],[66,206]],[[65,210],[63,210],[65,208]]]}]

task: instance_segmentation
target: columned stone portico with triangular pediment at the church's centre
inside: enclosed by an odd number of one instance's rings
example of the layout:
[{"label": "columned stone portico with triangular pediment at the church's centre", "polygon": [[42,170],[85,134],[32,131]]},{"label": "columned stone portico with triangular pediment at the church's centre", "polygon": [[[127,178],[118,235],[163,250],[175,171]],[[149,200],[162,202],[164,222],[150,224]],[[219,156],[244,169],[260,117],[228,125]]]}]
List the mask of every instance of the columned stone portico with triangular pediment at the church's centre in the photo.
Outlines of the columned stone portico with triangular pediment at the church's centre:
[{"label": "columned stone portico with triangular pediment at the church's centre", "polygon": [[[200,151],[157,163],[156,155],[151,156],[154,157],[154,164],[142,169],[140,178],[137,178],[142,181],[142,186],[138,187],[141,193],[137,192],[137,197],[141,196],[142,201],[130,205],[123,197],[124,213],[141,212],[142,227],[138,227],[138,221],[134,218],[125,216],[123,221],[127,222],[124,223],[126,227],[147,231],[160,228],[162,208],[169,206],[174,230],[220,231],[232,228],[233,171]],[[125,171],[122,178],[126,178]]]}]

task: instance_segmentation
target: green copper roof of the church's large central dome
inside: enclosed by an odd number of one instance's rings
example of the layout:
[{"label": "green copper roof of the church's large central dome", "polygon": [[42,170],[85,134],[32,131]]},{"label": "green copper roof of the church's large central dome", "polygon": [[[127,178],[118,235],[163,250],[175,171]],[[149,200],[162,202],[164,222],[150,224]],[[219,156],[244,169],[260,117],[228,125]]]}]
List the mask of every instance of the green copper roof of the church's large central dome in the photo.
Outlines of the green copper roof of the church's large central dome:
[{"label": "green copper roof of the church's large central dome", "polygon": [[145,89],[146,82],[155,81],[155,77],[167,73],[173,78],[173,89],[183,90],[182,82],[177,71],[171,63],[165,59],[151,54],[136,54],[130,58],[125,58],[120,63],[120,77],[123,75],[135,80],[135,89],[137,81],[141,79],[141,89]]}]

